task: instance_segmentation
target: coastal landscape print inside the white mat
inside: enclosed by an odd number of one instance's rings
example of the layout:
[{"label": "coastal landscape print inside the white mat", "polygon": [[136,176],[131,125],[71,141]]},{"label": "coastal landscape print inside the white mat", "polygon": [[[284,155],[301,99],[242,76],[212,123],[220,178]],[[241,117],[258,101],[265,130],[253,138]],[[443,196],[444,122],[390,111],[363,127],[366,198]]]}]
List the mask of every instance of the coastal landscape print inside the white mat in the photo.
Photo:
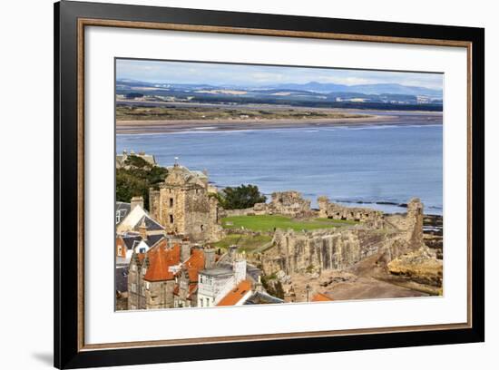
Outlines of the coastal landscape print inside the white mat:
[{"label": "coastal landscape print inside the white mat", "polygon": [[442,296],[443,86],[116,58],[116,310]]}]

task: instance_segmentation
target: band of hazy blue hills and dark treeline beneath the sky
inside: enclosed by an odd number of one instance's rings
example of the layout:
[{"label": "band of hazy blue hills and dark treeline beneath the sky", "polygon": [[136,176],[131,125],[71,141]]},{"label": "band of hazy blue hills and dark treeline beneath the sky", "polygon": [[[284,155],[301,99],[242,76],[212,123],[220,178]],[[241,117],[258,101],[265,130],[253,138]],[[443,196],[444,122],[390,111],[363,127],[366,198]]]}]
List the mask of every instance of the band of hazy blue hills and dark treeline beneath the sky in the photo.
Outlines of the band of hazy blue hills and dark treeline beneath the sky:
[{"label": "band of hazy blue hills and dark treeline beneath the sky", "polygon": [[116,93],[147,102],[284,104],[323,108],[442,111],[442,91],[398,83],[224,85],[118,79]]}]

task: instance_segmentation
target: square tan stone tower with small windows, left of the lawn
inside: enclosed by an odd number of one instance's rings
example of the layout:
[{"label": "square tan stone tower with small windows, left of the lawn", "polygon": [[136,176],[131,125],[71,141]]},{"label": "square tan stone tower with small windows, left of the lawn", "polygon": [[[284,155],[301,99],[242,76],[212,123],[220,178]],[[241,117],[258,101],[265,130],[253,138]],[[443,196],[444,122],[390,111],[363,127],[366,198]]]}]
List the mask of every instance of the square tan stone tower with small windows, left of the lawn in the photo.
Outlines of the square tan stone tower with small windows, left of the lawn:
[{"label": "square tan stone tower with small windows, left of the lawn", "polygon": [[208,188],[208,178],[201,171],[191,171],[175,163],[168,168],[160,190],[150,191],[152,217],[169,233],[192,241],[210,241],[218,226],[218,205]]}]

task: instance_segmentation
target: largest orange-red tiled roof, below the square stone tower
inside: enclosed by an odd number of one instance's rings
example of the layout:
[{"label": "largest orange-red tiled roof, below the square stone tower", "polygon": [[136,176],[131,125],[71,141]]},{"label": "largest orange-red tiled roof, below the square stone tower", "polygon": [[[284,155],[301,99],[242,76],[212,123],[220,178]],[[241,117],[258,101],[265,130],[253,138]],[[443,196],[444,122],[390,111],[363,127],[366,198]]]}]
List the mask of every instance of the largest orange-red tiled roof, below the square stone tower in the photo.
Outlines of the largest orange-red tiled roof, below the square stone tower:
[{"label": "largest orange-red tiled roof, below the square stone tower", "polygon": [[166,281],[172,280],[175,275],[169,271],[171,266],[178,265],[181,261],[181,246],[175,244],[173,248],[166,248],[166,241],[160,242],[147,252],[149,268],[145,273],[144,280]]}]

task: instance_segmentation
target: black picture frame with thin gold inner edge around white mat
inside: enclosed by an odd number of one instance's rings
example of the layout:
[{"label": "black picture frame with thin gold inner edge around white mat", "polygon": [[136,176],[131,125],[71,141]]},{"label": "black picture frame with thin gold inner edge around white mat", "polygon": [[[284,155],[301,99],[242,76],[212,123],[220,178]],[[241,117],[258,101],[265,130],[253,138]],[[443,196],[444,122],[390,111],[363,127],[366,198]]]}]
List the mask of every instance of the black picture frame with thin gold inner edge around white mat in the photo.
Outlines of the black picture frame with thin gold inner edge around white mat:
[{"label": "black picture frame with thin gold inner edge around white mat", "polygon": [[[465,48],[467,319],[417,326],[88,344],[85,27]],[[110,143],[112,146],[112,143]],[[484,341],[484,29],[62,1],[54,5],[54,366],[79,368]],[[473,227],[472,227],[473,226]],[[450,231],[452,232],[452,230]]]}]

